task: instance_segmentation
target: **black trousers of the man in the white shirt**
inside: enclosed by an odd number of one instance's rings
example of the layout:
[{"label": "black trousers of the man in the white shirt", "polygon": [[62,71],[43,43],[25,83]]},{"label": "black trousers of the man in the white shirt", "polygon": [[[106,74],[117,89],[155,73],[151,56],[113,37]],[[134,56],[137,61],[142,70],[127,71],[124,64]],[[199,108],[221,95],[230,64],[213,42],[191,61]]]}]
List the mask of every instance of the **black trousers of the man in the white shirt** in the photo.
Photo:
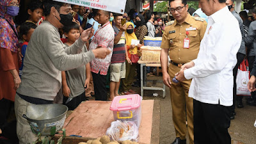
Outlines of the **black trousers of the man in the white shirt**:
[{"label": "black trousers of the man in the white shirt", "polygon": [[195,144],[231,144],[230,107],[206,104],[194,99]]}]

